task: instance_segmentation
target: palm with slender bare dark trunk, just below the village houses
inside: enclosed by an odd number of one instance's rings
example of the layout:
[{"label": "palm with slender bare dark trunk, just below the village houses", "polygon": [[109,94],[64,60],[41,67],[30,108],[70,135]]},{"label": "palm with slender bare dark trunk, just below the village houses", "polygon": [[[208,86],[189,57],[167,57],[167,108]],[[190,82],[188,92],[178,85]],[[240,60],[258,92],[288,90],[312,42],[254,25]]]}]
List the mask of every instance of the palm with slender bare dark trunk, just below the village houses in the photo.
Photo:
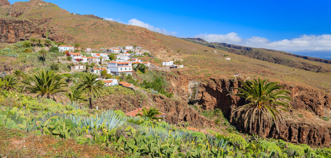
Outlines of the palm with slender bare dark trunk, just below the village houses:
[{"label": "palm with slender bare dark trunk, just below the village houses", "polygon": [[84,73],[80,75],[77,83],[77,89],[80,89],[89,98],[89,107],[92,108],[92,97],[100,97],[103,93],[104,83],[102,80],[96,80],[99,76],[93,73]]}]

